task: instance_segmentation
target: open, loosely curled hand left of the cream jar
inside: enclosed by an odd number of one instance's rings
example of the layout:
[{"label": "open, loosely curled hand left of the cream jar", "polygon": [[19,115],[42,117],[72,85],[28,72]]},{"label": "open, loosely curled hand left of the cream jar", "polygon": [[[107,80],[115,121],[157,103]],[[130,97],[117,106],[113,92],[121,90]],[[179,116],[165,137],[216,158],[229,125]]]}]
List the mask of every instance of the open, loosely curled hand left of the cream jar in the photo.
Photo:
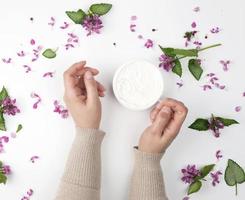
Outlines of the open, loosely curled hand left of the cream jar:
[{"label": "open, loosely curled hand left of the cream jar", "polygon": [[94,79],[99,71],[81,61],[64,72],[64,101],[77,127],[98,129],[105,88]]}]

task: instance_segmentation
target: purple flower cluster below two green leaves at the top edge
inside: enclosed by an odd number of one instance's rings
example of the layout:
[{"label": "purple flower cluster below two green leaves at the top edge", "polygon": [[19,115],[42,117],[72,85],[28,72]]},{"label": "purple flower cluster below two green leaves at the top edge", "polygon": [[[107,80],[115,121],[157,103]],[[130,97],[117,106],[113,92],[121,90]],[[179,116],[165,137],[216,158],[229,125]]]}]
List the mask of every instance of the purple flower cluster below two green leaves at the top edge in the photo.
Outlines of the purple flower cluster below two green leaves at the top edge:
[{"label": "purple flower cluster below two green leaves at the top edge", "polygon": [[85,17],[82,26],[88,31],[87,36],[92,33],[100,33],[100,29],[103,28],[103,24],[98,15],[88,15]]}]

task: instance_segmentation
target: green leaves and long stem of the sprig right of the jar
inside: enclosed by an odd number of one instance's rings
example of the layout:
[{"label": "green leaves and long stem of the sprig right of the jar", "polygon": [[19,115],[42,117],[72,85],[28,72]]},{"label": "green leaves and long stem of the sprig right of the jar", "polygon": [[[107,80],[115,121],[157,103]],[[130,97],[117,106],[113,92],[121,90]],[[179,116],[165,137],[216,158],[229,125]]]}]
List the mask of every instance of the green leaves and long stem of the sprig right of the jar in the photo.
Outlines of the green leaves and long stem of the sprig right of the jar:
[{"label": "green leaves and long stem of the sprig right of the jar", "polygon": [[182,76],[183,71],[180,60],[187,57],[194,57],[189,59],[188,68],[196,80],[200,80],[203,74],[203,69],[201,67],[200,60],[198,59],[199,53],[218,46],[221,46],[221,44],[214,44],[201,49],[175,49],[170,47],[164,48],[159,45],[161,51],[172,59],[172,72],[177,74],[179,77]]}]

